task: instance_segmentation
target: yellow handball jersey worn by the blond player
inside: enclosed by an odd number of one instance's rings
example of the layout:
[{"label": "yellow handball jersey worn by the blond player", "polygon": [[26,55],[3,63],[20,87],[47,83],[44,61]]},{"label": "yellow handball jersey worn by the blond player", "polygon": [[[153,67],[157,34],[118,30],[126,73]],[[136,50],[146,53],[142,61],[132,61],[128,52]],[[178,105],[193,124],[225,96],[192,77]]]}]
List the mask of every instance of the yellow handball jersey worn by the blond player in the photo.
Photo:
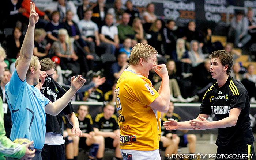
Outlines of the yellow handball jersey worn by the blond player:
[{"label": "yellow handball jersey worn by the blond player", "polygon": [[115,93],[119,113],[120,149],[159,149],[160,112],[148,106],[159,94],[151,81],[125,69],[117,81]]}]

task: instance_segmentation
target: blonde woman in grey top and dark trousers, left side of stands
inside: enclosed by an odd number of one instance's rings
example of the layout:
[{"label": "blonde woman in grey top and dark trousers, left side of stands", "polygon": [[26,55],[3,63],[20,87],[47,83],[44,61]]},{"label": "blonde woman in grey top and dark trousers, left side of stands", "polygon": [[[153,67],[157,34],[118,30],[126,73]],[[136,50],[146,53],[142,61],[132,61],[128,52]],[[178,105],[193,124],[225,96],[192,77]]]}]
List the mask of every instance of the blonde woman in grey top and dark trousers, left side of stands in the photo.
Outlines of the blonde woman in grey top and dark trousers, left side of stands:
[{"label": "blonde woman in grey top and dark trousers, left side of stands", "polygon": [[68,32],[65,29],[59,30],[59,41],[52,44],[52,50],[60,58],[60,67],[62,70],[72,70],[73,74],[80,74],[78,56],[72,48]]}]

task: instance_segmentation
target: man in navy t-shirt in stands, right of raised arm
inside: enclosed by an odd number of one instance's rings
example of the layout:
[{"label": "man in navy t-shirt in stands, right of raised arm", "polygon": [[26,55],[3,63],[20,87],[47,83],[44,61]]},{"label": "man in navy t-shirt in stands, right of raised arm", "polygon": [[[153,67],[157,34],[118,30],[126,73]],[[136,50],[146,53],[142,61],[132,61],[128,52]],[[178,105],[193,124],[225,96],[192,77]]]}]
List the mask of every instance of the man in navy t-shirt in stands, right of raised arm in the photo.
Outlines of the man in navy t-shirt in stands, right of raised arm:
[{"label": "man in navy t-shirt in stands, right of raised arm", "polygon": [[59,22],[60,20],[60,13],[59,11],[52,12],[52,20],[45,26],[45,31],[47,33],[47,38],[49,43],[53,43],[54,41],[59,41],[58,39],[58,32],[59,29],[64,28],[62,23]]}]

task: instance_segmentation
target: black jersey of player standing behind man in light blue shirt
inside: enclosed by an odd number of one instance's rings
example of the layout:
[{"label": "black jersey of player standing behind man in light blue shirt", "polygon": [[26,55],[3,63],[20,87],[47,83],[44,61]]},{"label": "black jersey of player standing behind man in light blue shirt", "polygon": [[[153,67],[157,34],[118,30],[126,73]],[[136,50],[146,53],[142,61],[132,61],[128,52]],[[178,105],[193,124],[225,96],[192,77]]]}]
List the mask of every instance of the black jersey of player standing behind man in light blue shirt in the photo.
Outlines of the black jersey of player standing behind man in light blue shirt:
[{"label": "black jersey of player standing behind man in light blue shirt", "polygon": [[[42,86],[42,93],[45,97],[50,99],[50,101],[55,102],[57,99],[62,97],[66,93],[66,91],[56,81],[54,81],[54,79],[52,79],[50,75],[48,75],[48,77],[45,78],[44,85]],[[74,112],[74,109],[69,102],[68,105],[57,116],[52,116],[46,113],[46,132],[62,134],[62,115],[63,113],[67,115],[71,114],[72,112]]]}]

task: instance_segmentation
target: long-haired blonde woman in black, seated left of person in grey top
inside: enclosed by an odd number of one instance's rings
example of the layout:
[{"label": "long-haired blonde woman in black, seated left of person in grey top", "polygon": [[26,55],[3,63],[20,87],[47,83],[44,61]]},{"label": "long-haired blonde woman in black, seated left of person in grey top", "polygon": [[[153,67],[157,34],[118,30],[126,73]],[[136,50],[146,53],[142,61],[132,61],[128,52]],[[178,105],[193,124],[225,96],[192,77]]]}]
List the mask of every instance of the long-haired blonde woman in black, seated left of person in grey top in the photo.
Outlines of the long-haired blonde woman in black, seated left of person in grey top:
[{"label": "long-haired blonde woman in black, seated left of person in grey top", "polygon": [[[189,59],[188,51],[185,48],[185,40],[182,38],[177,39],[176,50],[172,52],[172,59],[176,62],[177,73],[185,74],[190,73],[191,60]],[[184,76],[183,76],[184,77]]]}]

